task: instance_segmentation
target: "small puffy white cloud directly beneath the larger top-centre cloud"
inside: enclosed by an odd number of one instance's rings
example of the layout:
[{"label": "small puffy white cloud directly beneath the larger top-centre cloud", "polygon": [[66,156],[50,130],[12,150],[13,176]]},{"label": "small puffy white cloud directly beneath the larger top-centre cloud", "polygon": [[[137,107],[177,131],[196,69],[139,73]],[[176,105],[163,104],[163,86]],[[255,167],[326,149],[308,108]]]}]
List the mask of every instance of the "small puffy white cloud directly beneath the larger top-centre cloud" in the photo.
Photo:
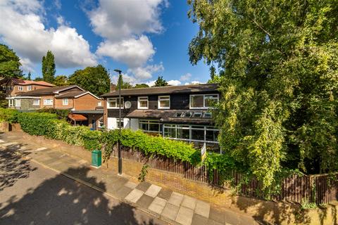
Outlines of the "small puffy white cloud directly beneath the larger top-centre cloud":
[{"label": "small puffy white cloud directly beneath the larger top-centre cloud", "polygon": [[144,65],[154,55],[155,50],[148,37],[142,35],[139,39],[101,42],[96,53],[100,56],[110,56],[130,68],[137,68]]}]

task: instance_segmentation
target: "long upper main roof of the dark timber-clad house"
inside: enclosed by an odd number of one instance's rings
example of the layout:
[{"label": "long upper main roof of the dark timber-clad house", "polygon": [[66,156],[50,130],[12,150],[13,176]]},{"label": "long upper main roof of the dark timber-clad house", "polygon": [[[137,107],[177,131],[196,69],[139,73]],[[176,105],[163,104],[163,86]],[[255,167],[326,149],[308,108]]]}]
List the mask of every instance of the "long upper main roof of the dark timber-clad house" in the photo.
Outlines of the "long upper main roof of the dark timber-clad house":
[{"label": "long upper main roof of the dark timber-clad house", "polygon": [[[121,96],[142,96],[158,94],[204,93],[217,91],[218,84],[190,84],[180,86],[155,86],[141,89],[121,89]],[[102,97],[118,96],[119,91],[103,94]]]}]

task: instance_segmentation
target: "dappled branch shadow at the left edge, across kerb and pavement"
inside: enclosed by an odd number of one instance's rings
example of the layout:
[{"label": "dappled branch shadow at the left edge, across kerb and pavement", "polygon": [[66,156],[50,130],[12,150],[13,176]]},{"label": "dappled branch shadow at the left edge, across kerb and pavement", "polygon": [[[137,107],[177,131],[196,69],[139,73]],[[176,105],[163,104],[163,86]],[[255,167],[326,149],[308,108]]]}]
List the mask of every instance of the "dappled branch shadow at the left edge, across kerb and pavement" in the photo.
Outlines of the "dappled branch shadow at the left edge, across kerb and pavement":
[{"label": "dappled branch shadow at the left edge, across kerb and pavement", "polygon": [[29,160],[25,160],[28,154],[30,150],[25,149],[23,144],[13,144],[0,150],[0,191],[13,186],[19,179],[27,178],[30,172],[37,169],[30,165]]}]

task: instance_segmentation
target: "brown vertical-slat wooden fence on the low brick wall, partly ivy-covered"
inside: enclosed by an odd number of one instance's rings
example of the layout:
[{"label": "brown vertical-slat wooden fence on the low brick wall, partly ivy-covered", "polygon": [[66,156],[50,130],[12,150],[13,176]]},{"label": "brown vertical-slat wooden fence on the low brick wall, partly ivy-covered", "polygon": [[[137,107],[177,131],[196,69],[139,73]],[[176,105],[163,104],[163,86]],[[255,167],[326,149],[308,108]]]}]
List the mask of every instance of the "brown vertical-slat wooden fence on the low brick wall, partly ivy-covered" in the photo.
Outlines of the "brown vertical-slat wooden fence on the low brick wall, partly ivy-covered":
[{"label": "brown vertical-slat wooden fence on the low brick wall, partly ivy-covered", "polygon": [[[118,156],[117,150],[114,148],[112,155]],[[181,162],[166,158],[163,156],[146,156],[144,153],[130,148],[123,147],[122,158],[125,160],[133,160],[142,164],[147,164],[154,169],[161,169],[167,172],[182,174],[185,179],[199,181],[201,183],[218,186],[220,176],[216,169],[212,174],[208,174],[206,166],[195,167],[189,162]],[[242,175],[232,172],[233,184],[239,185],[242,182]],[[209,179],[212,177],[213,179]],[[222,188],[223,186],[219,186]],[[338,200],[338,174],[320,174],[320,175],[292,175],[281,181],[280,193],[270,196],[272,200],[282,200],[292,203],[302,203],[304,200],[316,204],[326,204]],[[256,179],[251,179],[248,184],[242,185],[239,189],[239,195],[249,198],[263,198],[262,184]]]}]

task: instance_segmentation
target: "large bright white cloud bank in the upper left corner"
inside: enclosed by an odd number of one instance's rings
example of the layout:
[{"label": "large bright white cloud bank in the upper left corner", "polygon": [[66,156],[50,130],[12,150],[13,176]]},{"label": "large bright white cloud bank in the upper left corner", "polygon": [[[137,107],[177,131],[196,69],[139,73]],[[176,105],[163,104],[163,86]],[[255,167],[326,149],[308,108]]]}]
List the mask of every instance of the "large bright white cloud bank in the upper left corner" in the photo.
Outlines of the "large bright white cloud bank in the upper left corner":
[{"label": "large bright white cloud bank in the upper left corner", "polygon": [[[58,19],[57,29],[44,27],[41,2],[34,0],[0,0],[0,36],[18,55],[39,63],[46,51],[54,53],[61,68],[96,64],[88,41],[77,30]],[[26,64],[27,65],[27,64]]]}]

